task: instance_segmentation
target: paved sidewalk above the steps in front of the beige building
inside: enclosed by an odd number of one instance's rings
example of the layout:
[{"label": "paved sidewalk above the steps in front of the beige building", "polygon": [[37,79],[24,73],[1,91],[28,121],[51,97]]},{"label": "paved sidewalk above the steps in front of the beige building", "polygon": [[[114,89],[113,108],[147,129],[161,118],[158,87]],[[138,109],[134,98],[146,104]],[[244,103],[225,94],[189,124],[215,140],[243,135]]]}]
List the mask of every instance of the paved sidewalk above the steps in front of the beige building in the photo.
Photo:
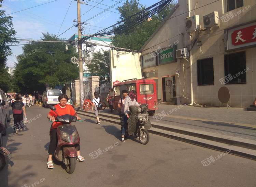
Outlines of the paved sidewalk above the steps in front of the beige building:
[{"label": "paved sidewalk above the steps in front of the beige building", "polygon": [[[111,114],[109,108],[100,113]],[[118,115],[116,111],[112,114]],[[256,112],[245,111],[242,108],[195,106],[179,106],[178,108],[176,105],[159,105],[159,110],[156,111],[155,116],[151,116],[151,121],[164,126],[170,125],[256,141],[255,117]]]}]

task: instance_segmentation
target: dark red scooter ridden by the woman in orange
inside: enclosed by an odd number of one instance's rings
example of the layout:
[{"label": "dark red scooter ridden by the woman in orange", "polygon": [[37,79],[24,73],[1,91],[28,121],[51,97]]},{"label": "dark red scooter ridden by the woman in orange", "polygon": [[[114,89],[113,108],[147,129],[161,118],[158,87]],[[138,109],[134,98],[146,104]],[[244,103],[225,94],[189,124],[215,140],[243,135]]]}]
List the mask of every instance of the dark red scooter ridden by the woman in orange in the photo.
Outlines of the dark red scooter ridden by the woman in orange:
[{"label": "dark red scooter ridden by the woman in orange", "polygon": [[[58,115],[54,106],[49,105],[49,108]],[[79,110],[80,107],[76,108],[75,111],[78,112]],[[71,122],[80,120],[77,120],[75,116],[66,114],[62,116],[58,115],[55,118],[55,121],[61,122],[62,125],[58,126],[57,128],[58,144],[54,157],[59,162],[63,162],[65,164],[65,170],[68,173],[73,173],[76,164],[77,147],[80,145],[80,137],[75,125],[71,125]]]}]

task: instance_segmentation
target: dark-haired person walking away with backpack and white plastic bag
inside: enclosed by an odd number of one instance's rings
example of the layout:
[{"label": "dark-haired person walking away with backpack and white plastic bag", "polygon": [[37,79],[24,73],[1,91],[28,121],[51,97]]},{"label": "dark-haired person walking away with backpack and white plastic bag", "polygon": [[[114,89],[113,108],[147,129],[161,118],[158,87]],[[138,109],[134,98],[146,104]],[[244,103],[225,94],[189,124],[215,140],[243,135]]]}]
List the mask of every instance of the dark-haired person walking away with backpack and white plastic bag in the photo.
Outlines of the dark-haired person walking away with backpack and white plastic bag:
[{"label": "dark-haired person walking away with backpack and white plastic bag", "polygon": [[14,131],[16,131],[16,134],[18,134],[19,131],[23,131],[23,115],[26,116],[25,105],[20,100],[20,96],[16,95],[15,101],[11,105],[13,112],[13,129]]}]

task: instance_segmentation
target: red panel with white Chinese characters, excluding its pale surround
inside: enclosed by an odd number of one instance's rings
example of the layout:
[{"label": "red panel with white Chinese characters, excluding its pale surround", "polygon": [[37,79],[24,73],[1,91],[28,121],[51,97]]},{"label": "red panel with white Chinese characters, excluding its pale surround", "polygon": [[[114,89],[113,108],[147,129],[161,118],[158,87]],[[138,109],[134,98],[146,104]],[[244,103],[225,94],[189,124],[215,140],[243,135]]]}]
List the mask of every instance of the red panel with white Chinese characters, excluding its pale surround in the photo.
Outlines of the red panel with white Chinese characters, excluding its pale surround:
[{"label": "red panel with white Chinese characters, excluding its pale surround", "polygon": [[256,25],[233,31],[231,38],[234,46],[255,42]]}]

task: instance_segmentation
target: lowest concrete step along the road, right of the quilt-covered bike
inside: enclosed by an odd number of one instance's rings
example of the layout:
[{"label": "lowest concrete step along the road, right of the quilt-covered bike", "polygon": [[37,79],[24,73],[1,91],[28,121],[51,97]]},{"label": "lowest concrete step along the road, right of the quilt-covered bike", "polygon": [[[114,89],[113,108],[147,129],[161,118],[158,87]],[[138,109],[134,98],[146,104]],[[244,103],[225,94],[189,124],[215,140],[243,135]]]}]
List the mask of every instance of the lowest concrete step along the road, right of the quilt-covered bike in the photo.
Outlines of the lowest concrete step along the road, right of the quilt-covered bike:
[{"label": "lowest concrete step along the road, right of the quilt-covered bike", "polygon": [[226,143],[216,142],[216,141],[212,141],[212,140],[208,140],[208,139],[203,139],[203,138],[198,138],[198,137],[189,136],[189,135],[185,135],[185,134],[170,132],[170,131],[157,129],[157,128],[151,128],[149,130],[149,132],[151,132],[153,134],[165,136],[168,138],[172,138],[175,140],[180,140],[180,141],[184,141],[187,143],[191,143],[194,145],[218,150],[218,151],[223,151],[223,152],[228,151],[228,152],[230,152],[229,154],[256,160],[256,151],[252,150],[252,149],[228,145]]}]

